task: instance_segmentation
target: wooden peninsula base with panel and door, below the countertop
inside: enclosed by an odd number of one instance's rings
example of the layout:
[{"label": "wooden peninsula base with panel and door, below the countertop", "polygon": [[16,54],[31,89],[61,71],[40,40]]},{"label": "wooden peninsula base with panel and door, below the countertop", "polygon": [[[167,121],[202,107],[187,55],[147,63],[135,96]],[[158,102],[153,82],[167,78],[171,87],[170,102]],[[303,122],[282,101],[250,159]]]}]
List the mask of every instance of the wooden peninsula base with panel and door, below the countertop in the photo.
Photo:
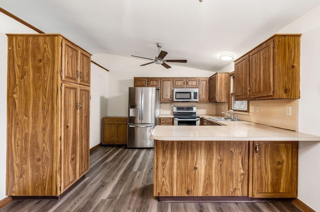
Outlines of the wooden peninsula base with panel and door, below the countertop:
[{"label": "wooden peninsula base with panel and door, below the countertop", "polygon": [[297,141],[154,142],[154,196],[297,196]]}]

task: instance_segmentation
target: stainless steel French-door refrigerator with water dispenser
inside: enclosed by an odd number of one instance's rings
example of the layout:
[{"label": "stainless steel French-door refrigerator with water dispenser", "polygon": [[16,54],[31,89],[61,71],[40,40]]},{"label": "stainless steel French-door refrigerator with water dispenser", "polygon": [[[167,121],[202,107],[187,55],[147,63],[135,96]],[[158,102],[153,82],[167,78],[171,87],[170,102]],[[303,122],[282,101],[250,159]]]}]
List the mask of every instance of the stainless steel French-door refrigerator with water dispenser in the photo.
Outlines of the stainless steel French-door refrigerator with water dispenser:
[{"label": "stainless steel French-door refrigerator with water dispenser", "polygon": [[154,147],[157,102],[155,87],[129,87],[127,147]]}]

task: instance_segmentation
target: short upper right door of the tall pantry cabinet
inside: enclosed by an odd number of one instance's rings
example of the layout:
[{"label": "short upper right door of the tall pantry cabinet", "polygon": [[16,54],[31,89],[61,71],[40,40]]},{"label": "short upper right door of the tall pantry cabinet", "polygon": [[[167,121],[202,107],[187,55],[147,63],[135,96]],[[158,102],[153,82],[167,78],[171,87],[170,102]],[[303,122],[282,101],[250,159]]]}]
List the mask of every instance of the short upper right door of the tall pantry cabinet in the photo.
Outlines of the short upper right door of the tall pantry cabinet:
[{"label": "short upper right door of the tall pantry cabinet", "polygon": [[79,83],[90,86],[90,54],[84,50],[79,50]]}]

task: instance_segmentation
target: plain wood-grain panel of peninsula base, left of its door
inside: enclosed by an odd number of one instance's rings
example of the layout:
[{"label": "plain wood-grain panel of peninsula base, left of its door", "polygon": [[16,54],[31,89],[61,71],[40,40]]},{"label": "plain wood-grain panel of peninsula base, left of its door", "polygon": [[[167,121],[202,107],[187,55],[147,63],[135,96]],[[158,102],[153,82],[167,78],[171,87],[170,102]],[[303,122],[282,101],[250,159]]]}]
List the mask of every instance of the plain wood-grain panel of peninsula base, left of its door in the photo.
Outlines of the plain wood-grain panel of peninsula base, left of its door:
[{"label": "plain wood-grain panel of peninsula base, left of its door", "polygon": [[154,196],[248,195],[248,142],[154,143]]}]

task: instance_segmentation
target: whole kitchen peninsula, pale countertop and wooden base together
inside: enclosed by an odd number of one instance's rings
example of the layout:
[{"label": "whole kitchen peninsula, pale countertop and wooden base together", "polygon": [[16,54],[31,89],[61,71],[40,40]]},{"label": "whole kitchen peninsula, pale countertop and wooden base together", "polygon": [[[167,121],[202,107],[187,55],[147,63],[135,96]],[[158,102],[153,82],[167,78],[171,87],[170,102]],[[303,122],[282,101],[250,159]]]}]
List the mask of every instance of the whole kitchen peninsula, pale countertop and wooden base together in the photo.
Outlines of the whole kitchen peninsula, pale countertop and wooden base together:
[{"label": "whole kitchen peninsula, pale countertop and wooden base together", "polygon": [[298,141],[320,137],[247,121],[222,122],[154,128],[154,196],[169,201],[295,198]]}]

